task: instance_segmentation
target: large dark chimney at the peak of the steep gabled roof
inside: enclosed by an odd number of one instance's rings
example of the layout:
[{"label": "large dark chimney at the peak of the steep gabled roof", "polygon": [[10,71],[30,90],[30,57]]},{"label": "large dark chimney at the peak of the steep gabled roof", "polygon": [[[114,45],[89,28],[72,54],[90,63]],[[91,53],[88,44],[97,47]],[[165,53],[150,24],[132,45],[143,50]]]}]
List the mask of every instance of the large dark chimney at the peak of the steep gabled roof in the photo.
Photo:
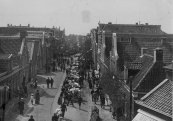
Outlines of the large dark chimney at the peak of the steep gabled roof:
[{"label": "large dark chimney at the peak of the steep gabled roof", "polygon": [[163,49],[154,49],[154,62],[163,62]]}]

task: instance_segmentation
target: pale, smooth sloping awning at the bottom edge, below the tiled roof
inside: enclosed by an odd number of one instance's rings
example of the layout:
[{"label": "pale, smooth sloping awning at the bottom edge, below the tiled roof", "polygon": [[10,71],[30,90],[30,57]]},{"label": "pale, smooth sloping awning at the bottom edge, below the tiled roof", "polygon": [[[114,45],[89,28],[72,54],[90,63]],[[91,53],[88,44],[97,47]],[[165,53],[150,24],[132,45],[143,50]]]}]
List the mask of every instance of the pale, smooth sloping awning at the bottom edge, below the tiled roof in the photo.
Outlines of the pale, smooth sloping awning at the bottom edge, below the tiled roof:
[{"label": "pale, smooth sloping awning at the bottom edge, below the tiled roof", "polygon": [[132,121],[166,121],[143,110],[138,109],[138,114]]}]

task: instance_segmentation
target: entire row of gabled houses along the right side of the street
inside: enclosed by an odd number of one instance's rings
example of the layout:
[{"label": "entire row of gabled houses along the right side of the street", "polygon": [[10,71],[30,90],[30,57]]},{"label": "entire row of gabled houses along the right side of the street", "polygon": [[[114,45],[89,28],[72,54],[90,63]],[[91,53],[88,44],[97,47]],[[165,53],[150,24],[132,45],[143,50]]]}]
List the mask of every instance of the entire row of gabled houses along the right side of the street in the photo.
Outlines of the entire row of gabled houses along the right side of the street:
[{"label": "entire row of gabled houses along the right side of the street", "polygon": [[[134,121],[144,121],[146,117],[171,120],[173,34],[163,32],[161,25],[109,22],[98,23],[90,35],[94,67],[101,75],[99,83],[112,106],[120,109],[119,117],[129,120],[137,115]],[[165,95],[167,99],[159,99]]]}]

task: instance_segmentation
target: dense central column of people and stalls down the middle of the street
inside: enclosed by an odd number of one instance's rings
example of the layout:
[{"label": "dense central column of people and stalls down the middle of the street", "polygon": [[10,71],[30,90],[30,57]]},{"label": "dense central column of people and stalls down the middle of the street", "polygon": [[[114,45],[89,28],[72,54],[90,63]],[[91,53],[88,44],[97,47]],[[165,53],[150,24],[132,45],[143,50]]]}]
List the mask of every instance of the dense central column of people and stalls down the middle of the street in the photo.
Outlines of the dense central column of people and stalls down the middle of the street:
[{"label": "dense central column of people and stalls down the middle of the street", "polygon": [[[67,65],[67,63],[65,63]],[[75,78],[71,75],[71,68],[70,63],[66,70],[66,78],[63,82],[63,86],[61,88],[61,93],[58,98],[58,105],[60,106],[61,113],[55,113],[52,116],[52,121],[58,121],[60,117],[64,118],[65,112],[67,111],[67,106],[72,105],[74,106],[74,102],[77,101],[79,105],[79,109],[81,108],[82,104],[82,96],[81,96],[81,87],[82,78]],[[62,70],[63,71],[63,70]],[[80,82],[80,83],[79,83]]]}]

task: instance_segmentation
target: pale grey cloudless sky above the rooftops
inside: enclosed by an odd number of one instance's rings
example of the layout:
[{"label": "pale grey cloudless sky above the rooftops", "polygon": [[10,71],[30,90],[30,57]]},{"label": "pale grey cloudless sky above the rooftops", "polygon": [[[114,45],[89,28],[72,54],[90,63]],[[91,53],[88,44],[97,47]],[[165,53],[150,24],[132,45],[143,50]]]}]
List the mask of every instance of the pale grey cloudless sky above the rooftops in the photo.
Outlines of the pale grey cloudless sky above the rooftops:
[{"label": "pale grey cloudless sky above the rooftops", "polygon": [[161,25],[173,34],[173,0],[0,0],[0,26],[60,27],[86,35],[98,23]]}]

